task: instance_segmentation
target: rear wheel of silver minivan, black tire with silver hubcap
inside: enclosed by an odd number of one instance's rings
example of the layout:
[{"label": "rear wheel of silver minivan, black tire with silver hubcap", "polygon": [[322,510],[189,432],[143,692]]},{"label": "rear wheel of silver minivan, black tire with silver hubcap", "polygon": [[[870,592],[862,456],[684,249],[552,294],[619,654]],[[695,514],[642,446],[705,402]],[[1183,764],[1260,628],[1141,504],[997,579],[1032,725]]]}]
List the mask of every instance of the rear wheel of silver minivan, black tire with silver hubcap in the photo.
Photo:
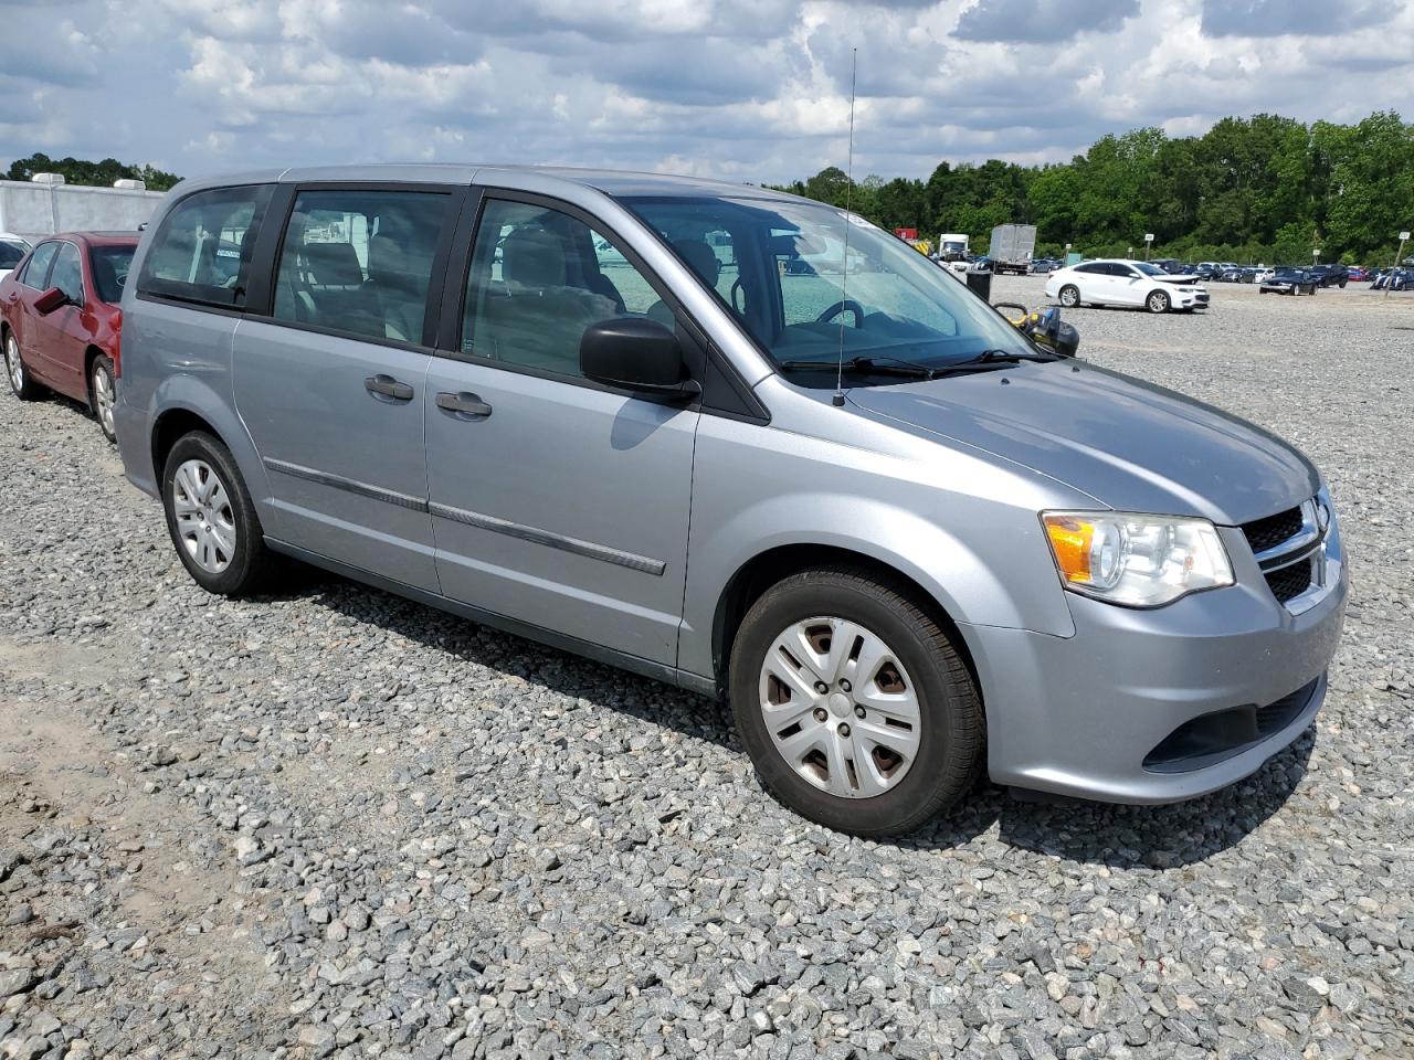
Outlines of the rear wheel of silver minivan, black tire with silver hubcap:
[{"label": "rear wheel of silver minivan, black tire with silver hubcap", "polygon": [[167,533],[192,579],[221,596],[262,589],[274,570],[260,516],[230,451],[205,431],[182,435],[163,469]]}]

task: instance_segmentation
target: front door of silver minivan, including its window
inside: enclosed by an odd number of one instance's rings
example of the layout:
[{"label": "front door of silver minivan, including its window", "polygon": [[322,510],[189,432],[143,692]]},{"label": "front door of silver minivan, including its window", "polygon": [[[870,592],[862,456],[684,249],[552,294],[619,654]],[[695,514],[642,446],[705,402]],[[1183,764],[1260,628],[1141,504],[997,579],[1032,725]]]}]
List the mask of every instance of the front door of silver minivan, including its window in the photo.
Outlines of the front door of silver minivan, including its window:
[{"label": "front door of silver minivan, including its window", "polygon": [[584,329],[673,314],[568,208],[488,198],[460,342],[427,375],[427,488],[447,596],[673,666],[699,414],[585,380]]}]

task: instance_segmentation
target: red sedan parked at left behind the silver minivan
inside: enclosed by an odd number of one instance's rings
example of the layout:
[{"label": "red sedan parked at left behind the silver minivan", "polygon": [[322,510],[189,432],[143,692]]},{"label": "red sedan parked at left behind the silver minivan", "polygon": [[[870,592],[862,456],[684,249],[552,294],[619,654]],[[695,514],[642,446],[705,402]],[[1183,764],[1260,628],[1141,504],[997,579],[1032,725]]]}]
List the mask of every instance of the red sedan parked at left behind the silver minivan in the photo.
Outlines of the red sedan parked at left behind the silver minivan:
[{"label": "red sedan parked at left behind the silver minivan", "polygon": [[141,236],[69,232],[34,247],[0,280],[0,342],[16,396],[45,389],[83,401],[109,441],[123,311],[117,301]]}]

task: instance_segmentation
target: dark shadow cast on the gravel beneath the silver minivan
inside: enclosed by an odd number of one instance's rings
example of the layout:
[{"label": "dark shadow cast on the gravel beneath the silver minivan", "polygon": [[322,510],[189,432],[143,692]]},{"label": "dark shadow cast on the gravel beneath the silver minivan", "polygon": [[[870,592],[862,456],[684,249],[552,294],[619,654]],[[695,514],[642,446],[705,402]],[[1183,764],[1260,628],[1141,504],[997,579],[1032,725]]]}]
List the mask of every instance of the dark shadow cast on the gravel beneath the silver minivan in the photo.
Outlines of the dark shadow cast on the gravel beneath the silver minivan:
[{"label": "dark shadow cast on the gravel beneath the silver minivan", "polygon": [[[308,599],[356,622],[485,666],[561,695],[587,700],[684,736],[745,753],[730,711],[703,695],[502,633],[416,601],[327,574],[291,567],[267,599]],[[957,808],[885,847],[921,852],[963,847],[997,825],[1010,847],[1111,868],[1168,869],[1203,862],[1234,847],[1285,804],[1305,775],[1315,729],[1250,777],[1171,806],[1114,806],[1080,799],[1031,801],[981,783]]]}]

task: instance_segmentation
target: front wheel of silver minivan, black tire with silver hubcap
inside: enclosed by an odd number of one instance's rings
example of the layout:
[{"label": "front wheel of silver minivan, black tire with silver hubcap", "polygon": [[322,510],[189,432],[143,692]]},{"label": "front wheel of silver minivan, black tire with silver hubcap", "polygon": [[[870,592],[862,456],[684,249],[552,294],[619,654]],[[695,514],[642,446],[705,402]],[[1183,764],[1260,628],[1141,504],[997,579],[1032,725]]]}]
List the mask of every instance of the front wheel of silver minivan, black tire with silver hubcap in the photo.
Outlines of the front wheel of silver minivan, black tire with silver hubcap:
[{"label": "front wheel of silver minivan, black tire with silver hubcap", "polygon": [[769,588],[737,630],[728,687],[762,783],[836,831],[913,831],[966,796],[983,766],[967,666],[888,578],[839,567]]}]

